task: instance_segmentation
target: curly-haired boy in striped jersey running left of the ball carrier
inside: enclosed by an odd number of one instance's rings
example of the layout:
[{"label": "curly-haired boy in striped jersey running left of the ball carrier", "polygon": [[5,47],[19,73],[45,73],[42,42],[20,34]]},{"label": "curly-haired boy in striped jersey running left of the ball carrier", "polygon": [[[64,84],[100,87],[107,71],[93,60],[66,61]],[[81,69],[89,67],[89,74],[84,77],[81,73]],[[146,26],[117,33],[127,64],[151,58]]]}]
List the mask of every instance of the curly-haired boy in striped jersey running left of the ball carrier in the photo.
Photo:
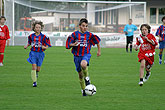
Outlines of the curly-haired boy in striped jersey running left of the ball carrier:
[{"label": "curly-haired boy in striped jersey running left of the ball carrier", "polygon": [[43,51],[45,51],[48,47],[51,47],[49,38],[41,33],[43,26],[44,25],[41,21],[35,21],[32,24],[32,30],[35,33],[28,36],[28,44],[24,46],[24,49],[26,49],[31,45],[31,51],[27,61],[32,64],[31,78],[33,81],[33,87],[37,87],[38,72],[40,71],[45,57]]}]

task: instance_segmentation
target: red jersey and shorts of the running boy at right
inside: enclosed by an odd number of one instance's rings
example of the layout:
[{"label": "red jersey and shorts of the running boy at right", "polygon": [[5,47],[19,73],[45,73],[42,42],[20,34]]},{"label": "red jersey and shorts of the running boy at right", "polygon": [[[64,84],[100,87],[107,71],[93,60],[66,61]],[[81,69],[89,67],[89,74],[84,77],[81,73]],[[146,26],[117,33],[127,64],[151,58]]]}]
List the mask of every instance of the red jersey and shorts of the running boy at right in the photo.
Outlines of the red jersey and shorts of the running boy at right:
[{"label": "red jersey and shorts of the running boy at right", "polygon": [[[155,45],[151,44],[146,39],[144,39],[145,37],[147,37],[149,40],[153,41],[155,43]],[[139,62],[142,59],[145,59],[146,65],[148,65],[148,64],[152,65],[154,62],[155,47],[156,47],[156,45],[158,45],[158,43],[156,41],[156,38],[152,34],[148,34],[145,37],[140,35],[136,38],[136,45],[138,45],[138,46],[140,45],[138,58],[139,58]]]}]

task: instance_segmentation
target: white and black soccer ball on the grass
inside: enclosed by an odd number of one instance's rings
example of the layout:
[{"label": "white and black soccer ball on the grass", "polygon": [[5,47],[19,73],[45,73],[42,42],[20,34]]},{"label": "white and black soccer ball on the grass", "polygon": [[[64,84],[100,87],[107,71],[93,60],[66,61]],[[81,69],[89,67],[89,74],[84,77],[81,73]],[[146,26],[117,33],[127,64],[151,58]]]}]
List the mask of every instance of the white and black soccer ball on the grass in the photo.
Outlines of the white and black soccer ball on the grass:
[{"label": "white and black soccer ball on the grass", "polygon": [[92,84],[87,85],[87,86],[85,87],[85,93],[86,93],[87,95],[90,95],[90,96],[96,94],[96,87],[95,87],[94,85],[92,85]]}]

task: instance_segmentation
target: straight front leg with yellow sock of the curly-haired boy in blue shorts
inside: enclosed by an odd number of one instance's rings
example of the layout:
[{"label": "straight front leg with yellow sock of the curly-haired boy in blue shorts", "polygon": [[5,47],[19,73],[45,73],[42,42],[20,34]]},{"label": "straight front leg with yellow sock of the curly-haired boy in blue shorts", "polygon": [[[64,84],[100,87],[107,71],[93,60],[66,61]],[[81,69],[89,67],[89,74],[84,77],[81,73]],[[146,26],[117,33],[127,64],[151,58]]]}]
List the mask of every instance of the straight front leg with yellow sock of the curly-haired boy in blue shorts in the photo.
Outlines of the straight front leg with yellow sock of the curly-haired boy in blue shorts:
[{"label": "straight front leg with yellow sock of the curly-haired boy in blue shorts", "polygon": [[32,64],[31,78],[33,81],[33,87],[37,87],[36,69],[37,69],[37,65]]}]

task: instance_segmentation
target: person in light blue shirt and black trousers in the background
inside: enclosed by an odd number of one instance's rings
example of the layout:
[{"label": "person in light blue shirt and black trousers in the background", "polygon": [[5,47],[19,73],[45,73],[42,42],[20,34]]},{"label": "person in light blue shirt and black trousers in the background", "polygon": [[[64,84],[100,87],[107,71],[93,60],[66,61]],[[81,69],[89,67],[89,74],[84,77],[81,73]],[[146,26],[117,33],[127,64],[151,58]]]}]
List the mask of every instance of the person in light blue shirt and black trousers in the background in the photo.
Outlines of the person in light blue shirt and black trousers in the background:
[{"label": "person in light blue shirt and black trousers in the background", "polygon": [[132,24],[132,19],[129,19],[129,23],[124,27],[124,32],[127,39],[126,52],[128,52],[128,45],[130,44],[130,52],[132,52],[132,42],[134,31],[137,30],[136,25]]}]

